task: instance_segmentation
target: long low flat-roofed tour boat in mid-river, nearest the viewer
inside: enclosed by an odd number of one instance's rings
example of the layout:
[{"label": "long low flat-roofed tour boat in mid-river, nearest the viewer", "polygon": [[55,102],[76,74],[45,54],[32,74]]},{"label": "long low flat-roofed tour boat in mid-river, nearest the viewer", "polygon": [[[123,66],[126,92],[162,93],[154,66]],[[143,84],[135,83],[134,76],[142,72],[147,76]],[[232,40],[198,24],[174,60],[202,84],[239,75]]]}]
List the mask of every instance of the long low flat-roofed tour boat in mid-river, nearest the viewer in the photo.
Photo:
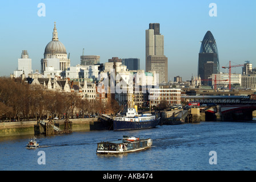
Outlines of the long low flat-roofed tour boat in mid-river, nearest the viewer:
[{"label": "long low flat-roofed tour boat in mid-river, nearest the viewer", "polygon": [[123,136],[123,139],[101,142],[97,146],[97,154],[123,154],[150,148],[153,140]]}]

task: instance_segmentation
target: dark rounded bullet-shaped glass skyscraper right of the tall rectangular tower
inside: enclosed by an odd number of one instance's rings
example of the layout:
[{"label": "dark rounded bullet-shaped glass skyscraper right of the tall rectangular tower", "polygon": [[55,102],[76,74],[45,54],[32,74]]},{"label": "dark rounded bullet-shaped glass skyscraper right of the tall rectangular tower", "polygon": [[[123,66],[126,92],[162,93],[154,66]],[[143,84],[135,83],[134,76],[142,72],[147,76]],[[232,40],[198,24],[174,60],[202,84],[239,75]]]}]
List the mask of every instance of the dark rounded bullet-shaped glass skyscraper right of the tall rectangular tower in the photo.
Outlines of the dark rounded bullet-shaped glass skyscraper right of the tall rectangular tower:
[{"label": "dark rounded bullet-shaped glass skyscraper right of the tall rectangular tower", "polygon": [[[207,79],[211,74],[219,73],[219,55],[213,34],[207,31],[203,38],[198,59],[198,76]],[[206,81],[202,81],[206,85]]]}]

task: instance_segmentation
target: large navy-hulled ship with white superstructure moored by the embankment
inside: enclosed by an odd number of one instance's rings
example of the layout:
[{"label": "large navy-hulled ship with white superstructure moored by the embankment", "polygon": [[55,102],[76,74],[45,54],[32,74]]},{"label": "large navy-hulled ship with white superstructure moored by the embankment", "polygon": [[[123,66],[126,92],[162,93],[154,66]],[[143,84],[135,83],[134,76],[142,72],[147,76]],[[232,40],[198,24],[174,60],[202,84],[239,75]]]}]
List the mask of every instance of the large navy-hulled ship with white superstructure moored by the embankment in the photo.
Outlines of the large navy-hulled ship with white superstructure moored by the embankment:
[{"label": "large navy-hulled ship with white superstructure moored by the embankment", "polygon": [[156,127],[160,117],[153,114],[138,114],[135,108],[127,109],[126,115],[117,115],[113,119],[113,130],[138,130]]}]

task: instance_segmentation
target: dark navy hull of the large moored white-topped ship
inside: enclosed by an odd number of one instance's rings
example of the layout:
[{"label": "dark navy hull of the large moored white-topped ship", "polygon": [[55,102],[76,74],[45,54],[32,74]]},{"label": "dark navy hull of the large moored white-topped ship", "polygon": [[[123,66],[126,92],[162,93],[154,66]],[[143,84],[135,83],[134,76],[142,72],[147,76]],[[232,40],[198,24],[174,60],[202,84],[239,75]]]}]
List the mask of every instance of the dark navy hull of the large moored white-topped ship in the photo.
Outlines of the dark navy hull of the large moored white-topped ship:
[{"label": "dark navy hull of the large moored white-topped ship", "polygon": [[113,130],[141,130],[141,129],[150,129],[156,127],[160,121],[160,118],[155,119],[154,121],[146,122],[129,122],[129,121],[113,121]]}]

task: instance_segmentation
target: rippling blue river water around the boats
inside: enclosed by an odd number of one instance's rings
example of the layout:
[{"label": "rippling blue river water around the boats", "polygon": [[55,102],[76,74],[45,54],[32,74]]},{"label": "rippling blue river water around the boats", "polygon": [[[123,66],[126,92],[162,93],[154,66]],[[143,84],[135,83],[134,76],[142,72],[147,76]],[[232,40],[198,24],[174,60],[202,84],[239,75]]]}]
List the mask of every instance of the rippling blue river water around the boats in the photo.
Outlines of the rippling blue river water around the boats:
[{"label": "rippling blue river water around the boats", "polygon": [[[125,155],[96,154],[98,142],[121,139],[123,135],[151,138],[153,147]],[[27,150],[25,146],[32,137],[25,135],[0,138],[1,171],[256,169],[255,122],[201,122],[163,125],[146,130],[85,131],[53,137],[39,136],[37,141],[43,147]],[[215,153],[212,155],[211,151]],[[41,156],[45,158],[42,159]],[[210,164],[209,160],[215,164]],[[45,164],[39,164],[40,161],[45,161]]]}]

